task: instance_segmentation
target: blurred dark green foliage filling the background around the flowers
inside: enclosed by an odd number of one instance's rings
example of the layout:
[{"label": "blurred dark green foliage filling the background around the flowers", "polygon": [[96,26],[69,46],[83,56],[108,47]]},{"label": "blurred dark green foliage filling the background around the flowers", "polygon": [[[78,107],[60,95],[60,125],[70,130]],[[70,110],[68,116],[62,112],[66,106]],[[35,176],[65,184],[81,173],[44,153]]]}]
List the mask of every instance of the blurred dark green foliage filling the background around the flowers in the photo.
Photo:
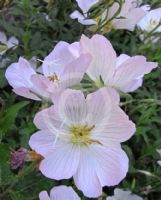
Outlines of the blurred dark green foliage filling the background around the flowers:
[{"label": "blurred dark green foliage filling the background around the flowers", "polygon": [[[146,2],[153,8],[161,6],[159,0]],[[12,63],[19,56],[43,59],[58,41],[76,41],[83,32],[91,35],[86,27],[69,17],[77,8],[74,0],[49,0],[48,3],[43,0],[4,0],[0,8],[0,30],[7,36],[16,36],[20,42],[17,49],[8,50],[0,61],[8,57]],[[46,19],[46,14],[51,20]],[[118,54],[142,54],[161,65],[161,42],[142,43],[138,30],[115,30],[106,36]],[[49,191],[60,183],[73,185],[73,182],[47,179],[35,169],[34,163],[27,163],[19,172],[11,170],[10,151],[19,147],[29,149],[28,139],[36,130],[33,117],[40,104],[26,102],[11,91],[4,77],[6,67],[2,68],[0,64],[0,199],[36,200],[42,190]],[[130,169],[127,178],[117,187],[129,188],[145,200],[160,200],[161,170],[157,164],[160,157],[156,152],[161,148],[160,67],[145,77],[143,87],[121,100],[122,108],[136,123],[137,131],[122,145],[129,156]],[[105,187],[104,192],[110,195],[113,188]]]}]

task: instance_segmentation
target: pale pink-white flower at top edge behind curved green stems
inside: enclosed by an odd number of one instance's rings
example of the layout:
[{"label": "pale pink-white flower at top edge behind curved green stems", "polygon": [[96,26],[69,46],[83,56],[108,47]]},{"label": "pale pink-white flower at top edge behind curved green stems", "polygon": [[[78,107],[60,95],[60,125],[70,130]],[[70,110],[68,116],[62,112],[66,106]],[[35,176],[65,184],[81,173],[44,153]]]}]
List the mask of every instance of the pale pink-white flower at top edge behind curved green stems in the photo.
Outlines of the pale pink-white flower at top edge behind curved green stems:
[{"label": "pale pink-white flower at top edge behind curved green stems", "polygon": [[[87,18],[87,12],[89,9],[96,3],[98,3],[98,0],[93,1],[86,1],[84,3],[84,0],[77,0],[77,3],[79,7],[81,8],[83,14],[81,14],[79,11],[74,11],[70,17],[72,19],[78,19],[78,21],[84,25],[94,25],[98,23],[100,20],[109,20],[111,19],[117,10],[119,9],[118,3],[113,3],[111,7],[107,11],[105,11],[102,16],[100,16],[100,19],[86,19]],[[130,31],[133,31],[135,28],[135,25],[142,19],[142,17],[145,16],[146,11],[140,7],[141,1],[137,0],[125,0],[123,2],[122,8],[120,13],[117,15],[116,18],[112,19],[109,24],[107,24],[108,27],[114,28],[114,29],[127,29]],[[110,28],[110,29],[111,29]]]}]

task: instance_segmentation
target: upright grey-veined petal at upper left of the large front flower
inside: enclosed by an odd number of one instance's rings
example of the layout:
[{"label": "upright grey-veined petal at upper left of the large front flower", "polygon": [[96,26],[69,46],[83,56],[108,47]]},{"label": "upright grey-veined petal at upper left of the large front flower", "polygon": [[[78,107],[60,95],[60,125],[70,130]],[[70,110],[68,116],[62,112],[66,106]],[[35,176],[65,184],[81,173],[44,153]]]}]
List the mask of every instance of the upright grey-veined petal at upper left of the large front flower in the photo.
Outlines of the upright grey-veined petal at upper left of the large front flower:
[{"label": "upright grey-veined petal at upper left of the large front flower", "polygon": [[84,94],[78,90],[65,90],[58,106],[61,118],[69,125],[81,123],[87,115]]}]

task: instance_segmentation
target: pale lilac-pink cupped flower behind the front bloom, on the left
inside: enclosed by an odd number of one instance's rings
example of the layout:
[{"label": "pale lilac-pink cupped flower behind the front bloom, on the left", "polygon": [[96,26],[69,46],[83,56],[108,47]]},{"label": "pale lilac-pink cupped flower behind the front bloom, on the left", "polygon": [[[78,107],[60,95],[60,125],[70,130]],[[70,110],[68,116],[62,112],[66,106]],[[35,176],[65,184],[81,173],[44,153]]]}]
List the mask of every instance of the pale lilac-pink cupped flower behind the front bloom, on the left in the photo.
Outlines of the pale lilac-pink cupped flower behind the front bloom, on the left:
[{"label": "pale lilac-pink cupped flower behind the front bloom, on the left", "polygon": [[13,91],[23,97],[50,101],[51,95],[81,81],[89,65],[90,56],[76,54],[75,43],[59,42],[44,59],[42,74],[37,74],[30,63],[20,57],[11,64],[6,78]]}]

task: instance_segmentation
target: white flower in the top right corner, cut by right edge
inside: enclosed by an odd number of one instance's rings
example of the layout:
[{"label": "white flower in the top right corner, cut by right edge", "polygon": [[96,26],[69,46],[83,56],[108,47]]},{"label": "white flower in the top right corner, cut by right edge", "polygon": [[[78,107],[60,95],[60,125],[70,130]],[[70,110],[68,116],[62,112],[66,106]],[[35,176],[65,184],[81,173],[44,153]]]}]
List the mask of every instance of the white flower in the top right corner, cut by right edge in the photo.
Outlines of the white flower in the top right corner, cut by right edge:
[{"label": "white flower in the top right corner, cut by right edge", "polygon": [[161,8],[149,11],[137,26],[146,32],[151,32],[158,26],[154,32],[161,32]]}]

